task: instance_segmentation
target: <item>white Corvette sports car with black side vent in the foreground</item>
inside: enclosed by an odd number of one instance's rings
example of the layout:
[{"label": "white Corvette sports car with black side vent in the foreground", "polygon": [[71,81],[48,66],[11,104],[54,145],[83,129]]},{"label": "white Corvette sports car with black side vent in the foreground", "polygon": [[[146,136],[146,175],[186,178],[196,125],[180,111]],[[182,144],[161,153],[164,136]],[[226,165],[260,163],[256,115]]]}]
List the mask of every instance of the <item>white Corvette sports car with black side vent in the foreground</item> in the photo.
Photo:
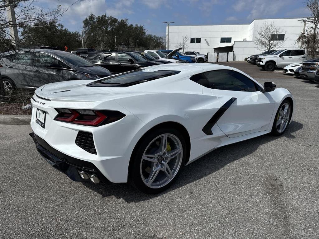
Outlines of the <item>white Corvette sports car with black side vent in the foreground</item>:
[{"label": "white Corvette sports car with black side vent in the foreground", "polygon": [[283,134],[293,96],[238,69],[207,63],[146,67],[35,91],[30,135],[74,181],[167,189],[184,165],[215,148]]}]

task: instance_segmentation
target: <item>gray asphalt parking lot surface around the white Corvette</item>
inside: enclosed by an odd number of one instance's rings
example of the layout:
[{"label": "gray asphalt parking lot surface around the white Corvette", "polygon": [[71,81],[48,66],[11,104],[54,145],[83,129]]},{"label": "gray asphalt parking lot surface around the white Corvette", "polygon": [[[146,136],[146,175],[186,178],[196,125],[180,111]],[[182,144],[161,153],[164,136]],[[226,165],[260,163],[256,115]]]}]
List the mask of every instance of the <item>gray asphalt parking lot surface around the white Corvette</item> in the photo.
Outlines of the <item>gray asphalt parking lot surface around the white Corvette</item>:
[{"label": "gray asphalt parking lot surface around the white Corvette", "polygon": [[72,182],[41,158],[28,125],[0,125],[0,238],[318,238],[319,86],[221,64],[292,92],[295,118],[283,136],[219,148],[170,190],[145,195]]}]

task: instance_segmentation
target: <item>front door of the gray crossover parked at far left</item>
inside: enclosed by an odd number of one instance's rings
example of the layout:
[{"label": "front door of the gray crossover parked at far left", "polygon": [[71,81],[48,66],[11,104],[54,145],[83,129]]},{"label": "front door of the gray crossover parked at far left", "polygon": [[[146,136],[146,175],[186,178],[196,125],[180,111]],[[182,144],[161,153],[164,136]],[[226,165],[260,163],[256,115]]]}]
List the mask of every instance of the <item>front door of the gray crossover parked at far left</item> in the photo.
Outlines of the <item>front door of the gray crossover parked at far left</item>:
[{"label": "front door of the gray crossover parked at far left", "polygon": [[[62,62],[56,57],[43,52],[34,53],[34,87],[44,84],[63,81],[63,66],[56,66]],[[52,68],[52,66],[55,66]]]}]

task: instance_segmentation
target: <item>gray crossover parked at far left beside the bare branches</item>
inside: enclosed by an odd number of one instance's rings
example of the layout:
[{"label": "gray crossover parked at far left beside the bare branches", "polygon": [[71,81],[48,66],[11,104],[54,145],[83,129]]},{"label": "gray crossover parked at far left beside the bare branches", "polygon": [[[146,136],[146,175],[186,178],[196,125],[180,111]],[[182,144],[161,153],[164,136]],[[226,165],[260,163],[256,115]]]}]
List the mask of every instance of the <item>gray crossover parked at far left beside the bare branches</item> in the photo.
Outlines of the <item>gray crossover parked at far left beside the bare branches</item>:
[{"label": "gray crossover parked at far left beside the bare branches", "polygon": [[109,70],[78,55],[58,50],[7,52],[0,59],[2,83],[7,93],[14,88],[35,89],[53,82],[94,80],[111,75]]}]

